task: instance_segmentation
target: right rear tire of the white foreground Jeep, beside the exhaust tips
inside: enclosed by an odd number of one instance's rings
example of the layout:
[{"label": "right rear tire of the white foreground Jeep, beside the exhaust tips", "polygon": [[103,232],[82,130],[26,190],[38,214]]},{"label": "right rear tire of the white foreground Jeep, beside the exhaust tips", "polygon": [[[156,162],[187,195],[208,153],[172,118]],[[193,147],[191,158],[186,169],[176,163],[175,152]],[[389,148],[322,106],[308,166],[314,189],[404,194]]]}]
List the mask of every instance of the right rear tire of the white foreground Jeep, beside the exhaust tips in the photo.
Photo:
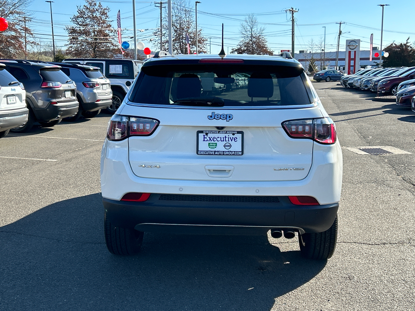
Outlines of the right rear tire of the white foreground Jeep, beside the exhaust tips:
[{"label": "right rear tire of the white foreground Jeep, beside the exhaust tips", "polygon": [[298,236],[300,251],[308,259],[325,260],[331,258],[336,249],[337,217],[332,226],[324,232],[304,233]]}]

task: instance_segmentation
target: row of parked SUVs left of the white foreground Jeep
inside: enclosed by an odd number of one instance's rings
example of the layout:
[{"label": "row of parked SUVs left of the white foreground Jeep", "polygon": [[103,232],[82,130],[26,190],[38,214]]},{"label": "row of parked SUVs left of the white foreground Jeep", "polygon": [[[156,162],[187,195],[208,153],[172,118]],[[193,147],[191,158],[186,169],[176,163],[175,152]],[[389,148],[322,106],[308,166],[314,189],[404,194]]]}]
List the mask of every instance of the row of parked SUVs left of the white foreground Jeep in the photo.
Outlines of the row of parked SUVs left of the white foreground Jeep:
[{"label": "row of parked SUVs left of the white foreground Jeep", "polygon": [[95,117],[102,109],[113,114],[141,64],[108,59],[64,63],[0,59],[0,138],[9,131],[27,132],[34,122],[50,127],[62,119]]}]

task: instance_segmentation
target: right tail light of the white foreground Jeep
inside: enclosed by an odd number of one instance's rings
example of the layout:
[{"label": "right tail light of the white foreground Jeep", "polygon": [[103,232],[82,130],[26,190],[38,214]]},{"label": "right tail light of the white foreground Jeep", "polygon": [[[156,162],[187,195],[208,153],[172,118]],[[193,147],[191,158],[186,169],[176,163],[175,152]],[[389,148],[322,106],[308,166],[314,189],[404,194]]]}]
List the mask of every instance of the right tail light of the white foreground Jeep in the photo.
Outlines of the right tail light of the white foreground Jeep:
[{"label": "right tail light of the white foreground Jeep", "polygon": [[324,144],[336,142],[336,125],[330,118],[291,120],[282,126],[292,138],[308,138]]}]

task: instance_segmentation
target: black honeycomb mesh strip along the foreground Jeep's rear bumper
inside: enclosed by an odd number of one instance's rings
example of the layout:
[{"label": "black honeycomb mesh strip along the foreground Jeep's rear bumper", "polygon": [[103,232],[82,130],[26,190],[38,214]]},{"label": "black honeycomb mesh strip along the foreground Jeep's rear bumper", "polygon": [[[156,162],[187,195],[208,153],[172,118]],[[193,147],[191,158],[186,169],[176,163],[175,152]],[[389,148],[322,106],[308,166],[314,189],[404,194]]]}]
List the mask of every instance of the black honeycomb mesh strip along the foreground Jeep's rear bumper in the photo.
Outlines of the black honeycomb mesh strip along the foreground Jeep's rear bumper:
[{"label": "black honeycomb mesh strip along the foreground Jeep's rear bumper", "polygon": [[237,202],[237,203],[278,203],[278,197],[247,196],[247,195],[186,195],[161,194],[163,201],[193,201],[193,202]]}]

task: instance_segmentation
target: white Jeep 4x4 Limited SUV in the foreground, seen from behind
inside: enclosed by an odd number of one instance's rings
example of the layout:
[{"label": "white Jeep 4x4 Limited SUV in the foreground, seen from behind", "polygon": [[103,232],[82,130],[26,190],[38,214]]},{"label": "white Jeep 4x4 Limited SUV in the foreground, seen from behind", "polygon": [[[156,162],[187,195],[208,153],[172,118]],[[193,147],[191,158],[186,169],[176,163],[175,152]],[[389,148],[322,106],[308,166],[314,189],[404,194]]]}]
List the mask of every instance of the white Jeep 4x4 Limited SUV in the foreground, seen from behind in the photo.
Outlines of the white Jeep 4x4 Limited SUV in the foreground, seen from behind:
[{"label": "white Jeep 4x4 Limited SUV in the foreground, seen from behind", "polygon": [[[222,94],[201,76],[247,88]],[[101,155],[105,239],[136,253],[144,232],[298,233],[327,259],[337,239],[342,151],[298,61],[281,56],[151,58],[108,124]]]}]

